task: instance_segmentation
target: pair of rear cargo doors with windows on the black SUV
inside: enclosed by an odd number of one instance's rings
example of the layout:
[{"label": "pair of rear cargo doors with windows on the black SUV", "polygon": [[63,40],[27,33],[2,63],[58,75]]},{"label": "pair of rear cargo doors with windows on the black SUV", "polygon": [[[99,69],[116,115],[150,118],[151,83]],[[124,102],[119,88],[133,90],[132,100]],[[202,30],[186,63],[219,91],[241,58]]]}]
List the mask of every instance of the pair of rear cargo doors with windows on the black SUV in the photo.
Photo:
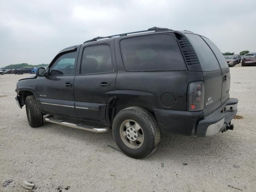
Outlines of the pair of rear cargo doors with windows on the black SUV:
[{"label": "pair of rear cargo doors with windows on the black SUV", "polygon": [[[205,91],[204,112],[208,114],[221,106],[229,97],[230,73],[228,64],[218,47],[210,40],[197,34],[187,33],[185,35],[193,46],[202,67]],[[222,56],[219,56],[218,51]],[[225,65],[223,69],[220,67],[217,56],[220,57],[220,63]]]}]

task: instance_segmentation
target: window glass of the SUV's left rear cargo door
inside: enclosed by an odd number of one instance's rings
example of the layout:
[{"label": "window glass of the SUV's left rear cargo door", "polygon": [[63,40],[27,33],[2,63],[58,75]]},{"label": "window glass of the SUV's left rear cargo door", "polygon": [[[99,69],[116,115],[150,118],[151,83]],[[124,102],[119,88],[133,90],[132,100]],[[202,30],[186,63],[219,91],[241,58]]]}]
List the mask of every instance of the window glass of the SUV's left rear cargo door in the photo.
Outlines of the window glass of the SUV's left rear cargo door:
[{"label": "window glass of the SUV's left rear cargo door", "polygon": [[186,34],[186,37],[196,51],[196,55],[198,56],[203,71],[220,70],[220,66],[212,50],[200,36]]}]

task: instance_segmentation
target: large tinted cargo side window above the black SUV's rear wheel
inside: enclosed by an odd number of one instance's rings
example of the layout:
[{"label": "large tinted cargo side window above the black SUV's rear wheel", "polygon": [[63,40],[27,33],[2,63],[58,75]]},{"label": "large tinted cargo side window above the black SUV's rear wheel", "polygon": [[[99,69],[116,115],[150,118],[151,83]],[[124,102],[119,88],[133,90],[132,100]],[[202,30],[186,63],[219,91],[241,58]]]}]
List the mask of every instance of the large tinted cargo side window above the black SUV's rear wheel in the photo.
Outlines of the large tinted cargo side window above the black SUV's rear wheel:
[{"label": "large tinted cargo side window above the black SUV's rear wheel", "polygon": [[170,35],[128,38],[121,40],[120,46],[127,71],[186,70],[178,44]]}]

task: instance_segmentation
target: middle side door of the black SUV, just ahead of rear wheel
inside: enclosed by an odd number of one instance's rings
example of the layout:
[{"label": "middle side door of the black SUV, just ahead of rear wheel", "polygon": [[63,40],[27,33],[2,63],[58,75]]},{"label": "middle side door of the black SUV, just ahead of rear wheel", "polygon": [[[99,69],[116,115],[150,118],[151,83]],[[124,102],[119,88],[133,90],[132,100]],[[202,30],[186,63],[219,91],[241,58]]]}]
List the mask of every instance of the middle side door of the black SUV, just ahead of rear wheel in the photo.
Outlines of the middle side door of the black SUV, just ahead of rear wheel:
[{"label": "middle side door of the black SUV, just ahead of rear wheel", "polygon": [[106,122],[106,104],[115,96],[114,40],[82,45],[74,80],[78,118]]}]

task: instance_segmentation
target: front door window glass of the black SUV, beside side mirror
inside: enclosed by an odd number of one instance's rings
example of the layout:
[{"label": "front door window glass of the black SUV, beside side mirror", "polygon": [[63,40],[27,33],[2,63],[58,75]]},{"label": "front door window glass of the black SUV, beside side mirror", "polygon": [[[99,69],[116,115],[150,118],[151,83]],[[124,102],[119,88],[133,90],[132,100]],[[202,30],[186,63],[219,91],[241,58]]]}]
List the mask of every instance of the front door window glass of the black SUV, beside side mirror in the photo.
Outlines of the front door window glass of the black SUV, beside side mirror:
[{"label": "front door window glass of the black SUV, beside side mirror", "polygon": [[62,54],[50,66],[50,75],[74,75],[76,52]]}]

